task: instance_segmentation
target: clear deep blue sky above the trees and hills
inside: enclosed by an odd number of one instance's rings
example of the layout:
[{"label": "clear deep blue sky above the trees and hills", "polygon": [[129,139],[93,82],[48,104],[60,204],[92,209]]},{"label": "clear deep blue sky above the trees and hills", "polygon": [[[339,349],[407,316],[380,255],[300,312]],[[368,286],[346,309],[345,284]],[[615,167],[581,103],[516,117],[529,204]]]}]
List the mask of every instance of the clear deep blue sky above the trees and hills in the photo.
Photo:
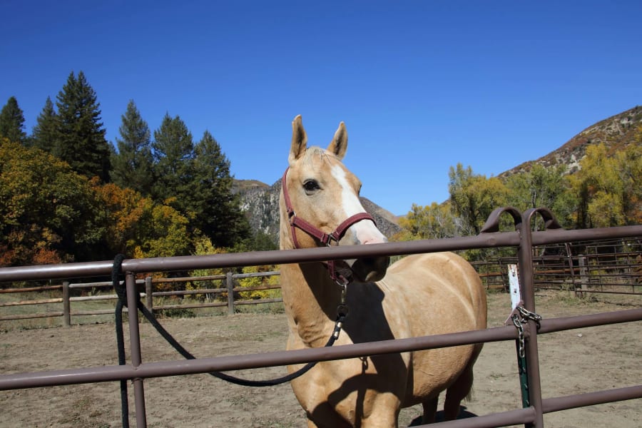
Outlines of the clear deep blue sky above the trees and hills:
[{"label": "clear deep blue sky above the trees and hills", "polygon": [[109,141],[133,99],[151,130],[209,130],[235,178],[272,184],[292,118],[340,121],[362,195],[395,214],[448,198],[642,104],[641,1],[6,1],[0,105],[26,131],[83,71]]}]

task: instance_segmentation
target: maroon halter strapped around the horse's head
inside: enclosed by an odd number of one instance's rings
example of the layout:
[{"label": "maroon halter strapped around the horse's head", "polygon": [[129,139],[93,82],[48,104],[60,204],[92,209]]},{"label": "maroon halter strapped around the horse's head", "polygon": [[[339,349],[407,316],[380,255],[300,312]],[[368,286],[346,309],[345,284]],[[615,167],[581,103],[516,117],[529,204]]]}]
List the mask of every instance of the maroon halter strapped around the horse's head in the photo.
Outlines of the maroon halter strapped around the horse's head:
[{"label": "maroon halter strapped around the horse's head", "polygon": [[[328,247],[330,247],[330,245],[332,245],[332,241],[335,241],[338,245],[339,241],[341,240],[341,238],[343,238],[343,235],[345,235],[350,226],[360,222],[361,220],[371,220],[372,223],[374,223],[375,225],[377,224],[374,221],[374,218],[372,218],[372,215],[368,213],[357,213],[355,215],[350,215],[350,217],[343,220],[342,223],[337,226],[334,232],[325,233],[315,225],[312,225],[302,218],[297,217],[295,210],[292,209],[290,194],[287,192],[286,178],[288,170],[290,170],[289,167],[285,170],[285,173],[283,173],[281,183],[283,188],[283,199],[285,200],[285,210],[287,212],[287,219],[290,223],[290,230],[292,233],[292,243],[294,244],[295,248],[301,248],[299,245],[299,241],[297,240],[297,228],[303,230],[313,238],[317,238],[317,240],[319,240],[323,245],[327,245]],[[337,269],[335,267],[335,260],[327,261],[327,270],[330,272],[330,277],[332,277],[332,280],[337,282],[337,284],[345,286],[347,283],[351,282],[352,272],[347,273],[347,275],[342,275],[341,273],[337,272]]]}]

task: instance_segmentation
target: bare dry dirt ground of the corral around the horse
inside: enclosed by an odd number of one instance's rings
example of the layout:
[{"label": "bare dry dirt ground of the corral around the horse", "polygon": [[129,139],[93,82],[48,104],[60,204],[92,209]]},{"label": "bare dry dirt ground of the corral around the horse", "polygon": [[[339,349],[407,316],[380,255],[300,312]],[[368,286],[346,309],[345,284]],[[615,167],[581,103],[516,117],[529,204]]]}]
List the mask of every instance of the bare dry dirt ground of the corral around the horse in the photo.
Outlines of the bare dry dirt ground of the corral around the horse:
[{"label": "bare dry dirt ground of the corral around the horse", "polygon": [[[565,292],[538,295],[544,317],[580,315],[640,307],[642,300],[570,298]],[[506,294],[489,295],[489,325],[503,325]],[[166,319],[163,325],[198,357],[282,350],[285,315]],[[642,384],[640,322],[591,327],[539,336],[544,397]],[[125,329],[127,330],[127,329]],[[153,328],[141,325],[143,361],[179,360]],[[0,373],[116,365],[113,323],[16,330],[0,323]],[[239,373],[270,379],[284,367]],[[474,398],[465,416],[521,407],[514,342],[486,344],[475,369]],[[288,384],[250,388],[206,374],[145,381],[148,427],[302,427],[305,415]],[[130,388],[131,424],[133,392]],[[0,427],[119,427],[117,382],[0,391]],[[420,407],[404,409],[399,426],[417,424]],[[546,427],[642,427],[642,400],[601,404],[544,415]]]}]

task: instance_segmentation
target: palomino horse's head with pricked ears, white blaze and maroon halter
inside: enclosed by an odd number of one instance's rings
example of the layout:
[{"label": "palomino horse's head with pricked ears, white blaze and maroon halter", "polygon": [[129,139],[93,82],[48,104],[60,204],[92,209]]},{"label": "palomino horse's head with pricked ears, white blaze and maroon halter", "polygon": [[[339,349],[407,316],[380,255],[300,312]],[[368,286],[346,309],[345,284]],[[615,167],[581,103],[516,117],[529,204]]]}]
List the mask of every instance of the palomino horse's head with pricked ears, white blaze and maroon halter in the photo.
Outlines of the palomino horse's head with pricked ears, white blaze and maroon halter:
[{"label": "palomino horse's head with pricked ears, white blaze and maroon halter", "polygon": [[[307,147],[301,116],[292,121],[290,167],[283,175],[280,198],[282,249],[386,242],[361,205],[360,180],[341,162],[346,148],[343,122],[324,150]],[[368,282],[384,277],[389,258],[344,261],[357,280]]]}]

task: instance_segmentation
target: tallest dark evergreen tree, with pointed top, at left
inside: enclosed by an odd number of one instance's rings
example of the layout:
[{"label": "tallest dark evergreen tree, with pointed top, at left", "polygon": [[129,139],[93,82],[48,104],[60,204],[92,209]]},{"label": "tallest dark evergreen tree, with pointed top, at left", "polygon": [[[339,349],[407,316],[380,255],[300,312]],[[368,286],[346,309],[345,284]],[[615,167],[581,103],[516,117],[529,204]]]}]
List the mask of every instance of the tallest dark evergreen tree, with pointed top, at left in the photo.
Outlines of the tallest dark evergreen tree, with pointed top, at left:
[{"label": "tallest dark evergreen tree, with pointed top, at left", "polygon": [[73,71],[56,97],[58,129],[54,154],[76,172],[107,182],[110,147],[101,123],[100,103],[82,71]]}]

